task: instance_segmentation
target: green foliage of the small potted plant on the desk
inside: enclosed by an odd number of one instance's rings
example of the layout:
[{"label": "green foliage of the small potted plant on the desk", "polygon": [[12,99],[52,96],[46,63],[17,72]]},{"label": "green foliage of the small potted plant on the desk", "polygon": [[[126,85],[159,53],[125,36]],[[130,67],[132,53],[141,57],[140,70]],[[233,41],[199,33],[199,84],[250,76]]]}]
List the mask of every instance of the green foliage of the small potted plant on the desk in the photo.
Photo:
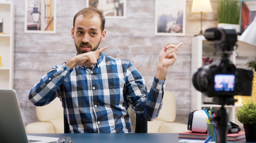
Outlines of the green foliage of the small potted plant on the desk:
[{"label": "green foliage of the small potted plant on the desk", "polygon": [[256,125],[256,102],[253,100],[243,103],[236,112],[238,121],[242,124]]}]

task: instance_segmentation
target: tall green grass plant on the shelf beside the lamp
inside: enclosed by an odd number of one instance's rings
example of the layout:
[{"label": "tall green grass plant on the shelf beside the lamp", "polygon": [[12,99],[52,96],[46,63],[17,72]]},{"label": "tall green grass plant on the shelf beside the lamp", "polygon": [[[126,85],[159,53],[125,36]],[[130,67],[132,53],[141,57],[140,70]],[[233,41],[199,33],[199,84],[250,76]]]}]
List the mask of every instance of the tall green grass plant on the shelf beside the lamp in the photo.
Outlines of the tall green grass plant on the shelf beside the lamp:
[{"label": "tall green grass plant on the shelf beside the lamp", "polygon": [[239,0],[218,1],[218,22],[227,24],[239,24],[240,2]]}]

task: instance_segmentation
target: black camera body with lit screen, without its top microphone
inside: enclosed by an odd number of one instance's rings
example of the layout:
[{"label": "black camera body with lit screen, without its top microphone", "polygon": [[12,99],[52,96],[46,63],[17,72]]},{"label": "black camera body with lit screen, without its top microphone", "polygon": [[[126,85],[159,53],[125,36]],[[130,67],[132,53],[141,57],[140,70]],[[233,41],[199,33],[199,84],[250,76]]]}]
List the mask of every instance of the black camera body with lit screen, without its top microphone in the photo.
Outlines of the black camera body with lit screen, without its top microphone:
[{"label": "black camera body with lit screen, without its top microphone", "polygon": [[199,68],[192,77],[198,91],[208,97],[252,94],[253,72],[236,68],[228,59],[220,59],[211,66]]}]

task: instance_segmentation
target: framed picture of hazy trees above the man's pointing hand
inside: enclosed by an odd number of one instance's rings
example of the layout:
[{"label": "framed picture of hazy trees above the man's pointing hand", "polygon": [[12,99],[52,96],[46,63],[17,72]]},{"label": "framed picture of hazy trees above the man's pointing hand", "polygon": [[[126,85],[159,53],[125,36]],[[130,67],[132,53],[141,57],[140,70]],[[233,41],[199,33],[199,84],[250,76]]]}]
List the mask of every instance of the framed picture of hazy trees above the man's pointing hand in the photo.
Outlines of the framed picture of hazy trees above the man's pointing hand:
[{"label": "framed picture of hazy trees above the man's pointing hand", "polygon": [[186,0],[155,0],[155,35],[184,36]]}]

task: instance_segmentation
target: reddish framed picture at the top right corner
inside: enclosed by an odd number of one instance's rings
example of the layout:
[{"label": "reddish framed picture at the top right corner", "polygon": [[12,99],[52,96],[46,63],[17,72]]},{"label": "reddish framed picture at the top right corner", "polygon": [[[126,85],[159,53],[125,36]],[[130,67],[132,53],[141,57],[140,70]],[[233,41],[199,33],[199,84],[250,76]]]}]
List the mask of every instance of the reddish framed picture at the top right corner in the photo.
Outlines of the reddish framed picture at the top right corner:
[{"label": "reddish framed picture at the top right corner", "polygon": [[256,0],[240,1],[240,33],[243,33],[247,26],[251,24],[256,15]]}]

